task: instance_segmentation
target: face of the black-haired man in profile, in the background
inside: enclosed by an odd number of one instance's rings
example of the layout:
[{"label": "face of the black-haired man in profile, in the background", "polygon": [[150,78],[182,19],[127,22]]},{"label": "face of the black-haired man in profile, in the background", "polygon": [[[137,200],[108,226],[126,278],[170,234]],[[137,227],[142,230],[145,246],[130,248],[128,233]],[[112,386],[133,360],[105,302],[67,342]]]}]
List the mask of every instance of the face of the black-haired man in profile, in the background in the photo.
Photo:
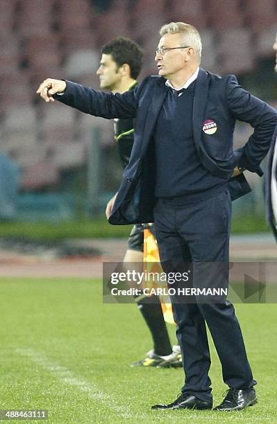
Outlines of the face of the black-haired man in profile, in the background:
[{"label": "face of the black-haired man in profile, in the background", "polygon": [[103,54],[100,66],[96,73],[100,78],[100,87],[102,89],[114,89],[121,81],[121,74],[118,72],[118,66],[112,59],[112,55]]}]

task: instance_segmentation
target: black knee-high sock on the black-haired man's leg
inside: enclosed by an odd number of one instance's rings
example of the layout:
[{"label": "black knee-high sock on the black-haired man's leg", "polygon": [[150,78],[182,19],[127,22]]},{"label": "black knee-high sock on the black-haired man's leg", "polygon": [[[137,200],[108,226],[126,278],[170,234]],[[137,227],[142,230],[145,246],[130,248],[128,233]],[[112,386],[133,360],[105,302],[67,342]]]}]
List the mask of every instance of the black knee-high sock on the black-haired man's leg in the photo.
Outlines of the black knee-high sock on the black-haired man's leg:
[{"label": "black knee-high sock on the black-haired man's leg", "polygon": [[167,325],[162,314],[162,306],[158,296],[144,297],[137,301],[137,306],[146,321],[152,335],[154,352],[157,355],[170,355],[172,352]]}]

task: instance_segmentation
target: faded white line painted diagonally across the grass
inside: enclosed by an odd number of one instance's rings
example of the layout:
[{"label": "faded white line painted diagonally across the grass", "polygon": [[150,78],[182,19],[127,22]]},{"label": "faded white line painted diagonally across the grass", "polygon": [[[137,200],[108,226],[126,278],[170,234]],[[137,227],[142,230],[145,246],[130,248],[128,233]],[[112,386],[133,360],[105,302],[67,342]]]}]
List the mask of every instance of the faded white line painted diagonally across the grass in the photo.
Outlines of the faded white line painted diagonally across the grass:
[{"label": "faded white line painted diagonally across the grass", "polygon": [[99,389],[93,382],[87,382],[83,379],[74,376],[74,373],[66,366],[60,366],[54,362],[51,362],[45,355],[34,351],[31,348],[17,348],[16,353],[19,355],[26,356],[31,359],[35,364],[42,366],[42,368],[51,372],[56,378],[59,378],[62,382],[69,386],[76,386],[79,390],[87,393],[90,398],[98,400],[105,404],[106,407],[112,409],[123,418],[149,418],[146,414],[133,414],[131,409],[126,405],[118,405],[115,399],[106,394],[103,390]]}]

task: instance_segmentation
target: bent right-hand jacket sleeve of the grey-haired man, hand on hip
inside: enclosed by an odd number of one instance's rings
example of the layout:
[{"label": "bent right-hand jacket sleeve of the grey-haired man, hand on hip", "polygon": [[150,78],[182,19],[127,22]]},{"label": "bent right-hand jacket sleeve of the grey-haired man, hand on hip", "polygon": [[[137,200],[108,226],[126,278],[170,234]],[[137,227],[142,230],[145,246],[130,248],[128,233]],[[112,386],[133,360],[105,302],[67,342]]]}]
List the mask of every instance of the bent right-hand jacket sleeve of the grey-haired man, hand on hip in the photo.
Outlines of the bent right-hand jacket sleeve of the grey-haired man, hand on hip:
[{"label": "bent right-hand jacket sleeve of the grey-haired man, hand on hip", "polygon": [[277,125],[276,110],[252,96],[230,76],[226,86],[228,109],[236,119],[249,123],[254,132],[243,148],[235,150],[237,165],[262,175],[260,163],[269,151],[271,138]]}]

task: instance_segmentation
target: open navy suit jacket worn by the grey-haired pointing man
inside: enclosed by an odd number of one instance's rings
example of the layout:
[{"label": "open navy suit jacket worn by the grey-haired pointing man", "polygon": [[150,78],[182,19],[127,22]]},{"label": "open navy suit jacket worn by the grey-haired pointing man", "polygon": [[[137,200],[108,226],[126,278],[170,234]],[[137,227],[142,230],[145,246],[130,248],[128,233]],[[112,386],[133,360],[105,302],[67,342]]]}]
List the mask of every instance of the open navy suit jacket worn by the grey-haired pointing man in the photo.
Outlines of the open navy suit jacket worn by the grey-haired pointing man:
[{"label": "open navy suit jacket worn by the grey-haired pointing man", "polygon": [[[105,94],[67,82],[65,94],[56,96],[62,103],[95,116],[136,118],[131,159],[112,209],[111,224],[153,222],[156,200],[152,134],[167,90],[165,78],[151,76],[124,94]],[[209,119],[217,123],[215,134],[203,132],[203,123]],[[236,119],[250,123],[255,130],[244,148],[234,152]],[[221,78],[200,69],[194,93],[193,132],[201,163],[210,173],[228,180],[235,166],[240,165],[262,175],[260,162],[269,150],[276,124],[276,111],[242,89],[235,76]],[[243,175],[231,179],[229,185],[233,199],[250,191]]]}]

